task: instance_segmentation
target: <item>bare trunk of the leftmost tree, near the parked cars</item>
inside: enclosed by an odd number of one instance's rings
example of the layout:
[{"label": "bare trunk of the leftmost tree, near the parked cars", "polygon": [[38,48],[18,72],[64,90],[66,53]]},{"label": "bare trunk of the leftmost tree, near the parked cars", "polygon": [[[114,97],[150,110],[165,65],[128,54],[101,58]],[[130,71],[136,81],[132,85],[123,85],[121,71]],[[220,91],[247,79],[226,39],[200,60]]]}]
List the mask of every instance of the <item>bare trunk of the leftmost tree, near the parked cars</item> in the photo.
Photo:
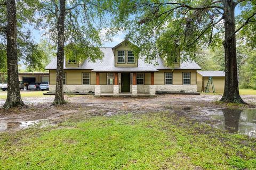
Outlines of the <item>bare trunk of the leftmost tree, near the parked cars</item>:
[{"label": "bare trunk of the leftmost tree, near the parked cars", "polygon": [[17,56],[17,18],[15,0],[6,1],[7,8],[7,99],[4,108],[24,106],[19,88],[18,56]]}]

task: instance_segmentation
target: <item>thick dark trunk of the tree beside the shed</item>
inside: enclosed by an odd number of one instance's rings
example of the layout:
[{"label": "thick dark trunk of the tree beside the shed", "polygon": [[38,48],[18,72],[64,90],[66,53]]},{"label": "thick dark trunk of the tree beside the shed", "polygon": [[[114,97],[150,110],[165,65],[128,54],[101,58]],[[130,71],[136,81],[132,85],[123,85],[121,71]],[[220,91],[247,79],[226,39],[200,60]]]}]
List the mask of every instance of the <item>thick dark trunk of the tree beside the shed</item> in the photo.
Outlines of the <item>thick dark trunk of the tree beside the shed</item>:
[{"label": "thick dark trunk of the tree beside the shed", "polygon": [[235,7],[234,1],[222,0],[224,7],[225,21],[225,89],[221,101],[227,103],[245,103],[239,95],[237,79],[237,59],[236,59],[236,35],[235,32]]}]

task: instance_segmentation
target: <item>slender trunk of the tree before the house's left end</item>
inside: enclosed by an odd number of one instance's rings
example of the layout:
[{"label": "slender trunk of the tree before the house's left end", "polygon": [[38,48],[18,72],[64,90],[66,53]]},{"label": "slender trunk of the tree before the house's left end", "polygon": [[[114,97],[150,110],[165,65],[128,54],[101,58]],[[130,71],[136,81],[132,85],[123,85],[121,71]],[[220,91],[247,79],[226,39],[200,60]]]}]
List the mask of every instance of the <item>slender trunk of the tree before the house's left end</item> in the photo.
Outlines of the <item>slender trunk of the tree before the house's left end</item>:
[{"label": "slender trunk of the tree before the house's left end", "polygon": [[58,50],[57,50],[57,70],[56,70],[56,89],[53,105],[66,104],[63,95],[63,64],[64,64],[64,43],[65,43],[65,6],[66,0],[59,0],[59,16],[57,23],[58,30]]}]

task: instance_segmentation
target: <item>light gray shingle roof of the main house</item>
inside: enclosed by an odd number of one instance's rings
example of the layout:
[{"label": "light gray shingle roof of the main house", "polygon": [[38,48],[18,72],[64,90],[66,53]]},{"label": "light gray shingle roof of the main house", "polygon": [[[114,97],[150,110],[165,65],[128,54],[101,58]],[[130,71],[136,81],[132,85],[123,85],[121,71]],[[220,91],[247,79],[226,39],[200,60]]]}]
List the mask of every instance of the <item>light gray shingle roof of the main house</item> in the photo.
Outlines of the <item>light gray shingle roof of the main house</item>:
[{"label": "light gray shingle roof of the main house", "polygon": [[[63,69],[89,69],[95,72],[117,72],[117,71],[123,71],[123,72],[131,72],[131,71],[136,71],[136,72],[155,72],[158,70],[163,70],[163,69],[171,69],[170,67],[165,66],[164,61],[161,58],[158,58],[158,65],[154,64],[148,64],[145,63],[143,58],[138,59],[138,67],[115,67],[115,57],[113,50],[111,48],[100,48],[101,51],[104,54],[104,57],[102,60],[97,60],[95,63],[90,62],[89,60],[85,60],[85,62],[79,67],[66,67],[64,64]],[[45,69],[46,70],[51,70],[51,69],[56,69],[57,67],[57,58],[54,58],[50,64],[48,64]],[[175,68],[177,70],[179,69],[191,69],[191,70],[200,70],[201,67],[195,63],[194,61],[189,61],[189,62],[182,62],[180,64],[180,67]]]}]

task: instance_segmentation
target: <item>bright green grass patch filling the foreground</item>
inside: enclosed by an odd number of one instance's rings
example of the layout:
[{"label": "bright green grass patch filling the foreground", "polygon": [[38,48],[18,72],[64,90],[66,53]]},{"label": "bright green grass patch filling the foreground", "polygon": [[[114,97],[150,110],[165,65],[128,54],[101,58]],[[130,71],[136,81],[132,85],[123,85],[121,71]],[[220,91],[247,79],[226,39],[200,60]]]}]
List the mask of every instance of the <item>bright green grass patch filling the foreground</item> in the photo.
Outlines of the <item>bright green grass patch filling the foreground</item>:
[{"label": "bright green grass patch filling the foreground", "polygon": [[0,134],[3,169],[256,169],[256,140],[170,113]]}]

